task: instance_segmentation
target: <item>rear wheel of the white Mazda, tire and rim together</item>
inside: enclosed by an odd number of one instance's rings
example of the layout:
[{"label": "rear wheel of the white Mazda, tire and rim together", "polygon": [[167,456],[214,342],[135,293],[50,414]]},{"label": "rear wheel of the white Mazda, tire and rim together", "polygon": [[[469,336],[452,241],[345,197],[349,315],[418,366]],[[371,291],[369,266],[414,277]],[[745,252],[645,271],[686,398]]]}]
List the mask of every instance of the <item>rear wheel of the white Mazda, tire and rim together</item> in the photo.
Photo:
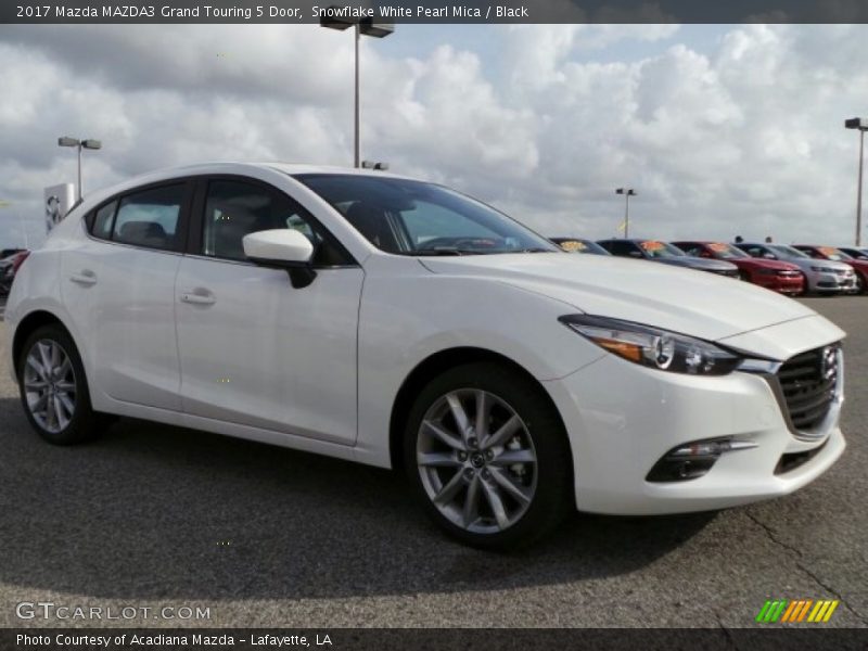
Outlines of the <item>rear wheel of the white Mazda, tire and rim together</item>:
[{"label": "rear wheel of the white Mazda, tire and rim together", "polygon": [[27,420],[56,445],[90,441],[101,421],[90,405],[81,358],[68,333],[43,326],[25,342],[18,359],[18,387]]}]

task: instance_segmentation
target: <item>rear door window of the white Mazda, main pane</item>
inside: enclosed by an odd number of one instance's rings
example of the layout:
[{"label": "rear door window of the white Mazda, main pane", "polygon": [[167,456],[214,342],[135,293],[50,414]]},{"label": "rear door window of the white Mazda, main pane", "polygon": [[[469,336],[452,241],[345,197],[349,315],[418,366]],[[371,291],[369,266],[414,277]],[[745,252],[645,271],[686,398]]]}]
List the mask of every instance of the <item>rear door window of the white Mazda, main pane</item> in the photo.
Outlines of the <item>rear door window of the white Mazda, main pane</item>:
[{"label": "rear door window of the white Mazda, main pane", "polygon": [[177,183],[126,195],[117,209],[112,239],[148,248],[174,250],[183,193],[184,184]]}]

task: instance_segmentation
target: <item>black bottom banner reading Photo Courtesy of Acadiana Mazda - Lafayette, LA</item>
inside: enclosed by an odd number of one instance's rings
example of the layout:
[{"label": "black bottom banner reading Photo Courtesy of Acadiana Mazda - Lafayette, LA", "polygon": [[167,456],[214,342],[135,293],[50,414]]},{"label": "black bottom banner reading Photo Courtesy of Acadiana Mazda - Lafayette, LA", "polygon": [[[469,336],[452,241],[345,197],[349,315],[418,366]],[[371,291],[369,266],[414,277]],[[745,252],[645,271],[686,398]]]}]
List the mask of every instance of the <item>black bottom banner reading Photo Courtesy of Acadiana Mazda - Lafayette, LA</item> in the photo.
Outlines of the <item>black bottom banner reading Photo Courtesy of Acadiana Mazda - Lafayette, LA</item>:
[{"label": "black bottom banner reading Photo Courtesy of Acadiana Mazda - Lafayette, LA", "polygon": [[0,648],[17,651],[238,649],[275,651],[865,651],[868,629],[2,629]]}]

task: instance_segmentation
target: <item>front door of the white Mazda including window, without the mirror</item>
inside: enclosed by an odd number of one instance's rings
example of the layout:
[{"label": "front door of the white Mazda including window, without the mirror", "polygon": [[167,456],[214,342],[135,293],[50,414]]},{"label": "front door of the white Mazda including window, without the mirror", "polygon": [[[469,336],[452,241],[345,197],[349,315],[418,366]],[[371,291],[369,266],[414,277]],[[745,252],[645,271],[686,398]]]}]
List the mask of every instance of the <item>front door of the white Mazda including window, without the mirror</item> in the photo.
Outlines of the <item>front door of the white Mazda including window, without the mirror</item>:
[{"label": "front door of the white Mazda including window, without the mirror", "polygon": [[[176,282],[183,410],[339,444],[356,439],[356,341],[363,272],[295,201],[240,178],[202,181]],[[317,247],[317,277],[244,257],[242,238],[294,228]]]}]

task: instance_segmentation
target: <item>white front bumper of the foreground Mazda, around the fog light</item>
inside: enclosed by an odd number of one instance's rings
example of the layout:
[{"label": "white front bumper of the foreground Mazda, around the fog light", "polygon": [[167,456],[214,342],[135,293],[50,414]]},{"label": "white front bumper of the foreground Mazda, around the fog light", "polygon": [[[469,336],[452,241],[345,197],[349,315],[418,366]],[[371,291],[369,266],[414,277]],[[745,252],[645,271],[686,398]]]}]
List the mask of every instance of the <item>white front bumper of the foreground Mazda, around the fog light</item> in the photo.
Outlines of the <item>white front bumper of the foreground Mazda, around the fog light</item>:
[{"label": "white front bumper of the foreground Mazda, around the fog light", "polygon": [[[571,438],[580,511],[650,515],[778,497],[817,478],[845,447],[838,426],[840,400],[819,436],[799,439],[769,382],[753,373],[697,378],[607,355],[545,385]],[[651,468],[676,446],[723,437],[756,447],[724,452],[698,478],[646,481]],[[781,472],[787,465],[782,460],[809,450],[816,450],[809,459]]]}]

